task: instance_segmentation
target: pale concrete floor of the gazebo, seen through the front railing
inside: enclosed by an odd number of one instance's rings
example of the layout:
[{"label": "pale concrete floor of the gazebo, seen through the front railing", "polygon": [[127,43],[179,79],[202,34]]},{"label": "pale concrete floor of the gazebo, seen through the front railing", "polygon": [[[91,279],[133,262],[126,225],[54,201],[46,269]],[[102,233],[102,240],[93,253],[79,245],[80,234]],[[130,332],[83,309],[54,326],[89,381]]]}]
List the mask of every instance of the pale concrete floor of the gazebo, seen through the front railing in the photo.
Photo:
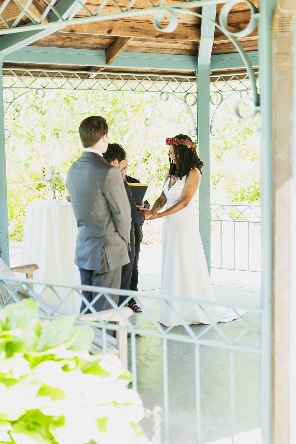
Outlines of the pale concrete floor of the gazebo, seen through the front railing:
[{"label": "pale concrete floor of the gazebo, seen through the front railing", "polygon": [[[21,264],[21,242],[10,243],[11,266]],[[150,248],[149,248],[150,247]],[[140,255],[139,291],[148,290],[158,294],[160,289],[161,244],[143,246]],[[220,275],[221,276],[221,275]],[[227,274],[227,277],[229,274]],[[221,301],[239,301],[246,305],[258,306],[260,289],[257,275],[253,284],[246,285],[243,279],[239,285],[232,282],[215,282],[213,285],[216,298]],[[140,295],[139,295],[140,296]],[[155,304],[142,298],[141,302],[149,309]],[[159,320],[158,306],[152,314]],[[132,316],[137,322],[143,314]],[[259,345],[260,322],[257,313],[249,311],[244,316],[249,324],[248,332],[239,341],[240,344]],[[151,321],[144,319],[145,329],[156,329]],[[245,329],[240,320],[219,324],[223,332],[235,338]],[[206,325],[192,325],[195,333],[207,328]],[[183,327],[175,327],[174,332],[184,333]],[[223,341],[212,328],[207,338]],[[162,340],[150,336],[136,338],[137,389],[146,408],[163,406],[163,369]],[[195,350],[194,346],[179,341],[168,341],[168,398],[169,398],[169,443],[196,443],[195,430]],[[131,359],[129,359],[129,362]],[[201,425],[202,443],[230,444],[230,385],[229,351],[210,346],[200,347],[201,377]],[[256,353],[234,353],[234,408],[236,434],[235,444],[260,444],[260,357]],[[142,425],[151,437],[150,420],[143,420]]]}]

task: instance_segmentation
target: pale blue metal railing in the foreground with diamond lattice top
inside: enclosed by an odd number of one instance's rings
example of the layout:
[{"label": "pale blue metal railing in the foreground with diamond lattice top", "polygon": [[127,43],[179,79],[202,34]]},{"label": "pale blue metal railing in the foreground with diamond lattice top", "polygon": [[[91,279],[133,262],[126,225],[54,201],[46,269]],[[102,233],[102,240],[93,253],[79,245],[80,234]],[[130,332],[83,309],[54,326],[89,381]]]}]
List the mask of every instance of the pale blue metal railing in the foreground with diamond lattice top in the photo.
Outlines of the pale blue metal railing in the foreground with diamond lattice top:
[{"label": "pale blue metal railing in the foreground with diamond lattice top", "polygon": [[[32,292],[28,287],[30,283],[34,283],[35,289],[38,287],[41,291]],[[40,306],[43,304],[41,317],[53,320],[60,315],[62,308],[75,316],[78,325],[87,324],[99,329],[101,353],[106,353],[108,349],[107,333],[110,329],[131,333],[127,340],[128,368],[133,377],[132,387],[139,392],[145,408],[150,409],[150,416],[156,416],[154,427],[148,419],[141,423],[154,443],[201,444],[225,436],[229,436],[227,442],[234,443],[237,436],[245,431],[251,433],[253,442],[262,443],[260,405],[265,403],[262,402],[264,392],[260,377],[264,364],[260,338],[265,317],[264,309],[259,304],[245,304],[243,298],[240,301],[237,293],[234,302],[231,298],[230,301],[216,302],[193,300],[186,295],[171,297],[150,292],[56,285],[0,277],[0,294],[1,289],[7,294],[3,305],[19,300],[18,294],[23,291],[23,287],[32,298],[39,301]],[[97,293],[92,303],[82,296],[83,289]],[[65,292],[66,296],[61,297],[60,294]],[[127,296],[127,301],[133,297],[143,312],[128,317],[126,307],[118,307],[114,301],[119,294]],[[47,301],[51,302],[44,309],[42,297],[45,295]],[[114,311],[107,317],[93,308],[93,303],[100,297],[105,297],[113,306]],[[71,298],[78,298],[79,301],[83,299],[86,309],[93,313],[96,321],[83,317],[83,313],[71,313]],[[175,324],[180,325],[165,327],[160,324],[160,301],[173,310]],[[175,310],[180,301],[186,305],[182,315]],[[208,325],[187,325],[183,320],[184,314],[194,306],[206,313]],[[236,321],[217,324],[208,315],[210,306],[248,311]],[[117,324],[112,323],[115,317]],[[158,408],[153,415],[151,411],[156,406]]]}]

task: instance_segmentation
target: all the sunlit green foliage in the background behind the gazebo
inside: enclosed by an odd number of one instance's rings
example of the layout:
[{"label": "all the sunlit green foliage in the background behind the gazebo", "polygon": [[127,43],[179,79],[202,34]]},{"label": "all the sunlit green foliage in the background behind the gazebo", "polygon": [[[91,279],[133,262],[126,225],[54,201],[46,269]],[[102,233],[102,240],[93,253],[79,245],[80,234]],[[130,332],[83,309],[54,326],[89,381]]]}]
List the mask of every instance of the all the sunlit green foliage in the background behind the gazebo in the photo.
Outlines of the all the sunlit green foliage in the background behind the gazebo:
[{"label": "all the sunlit green foliage in the background behind the gazebo", "polygon": [[[21,93],[23,90],[16,91],[16,97]],[[222,103],[215,122],[219,133],[212,137],[210,151],[213,203],[259,202],[259,118],[238,120],[233,112],[238,98],[236,95]],[[249,111],[247,102],[242,107],[243,112]],[[163,102],[158,94],[147,92],[46,90],[39,99],[27,91],[6,113],[6,125],[12,133],[6,141],[12,240],[22,238],[27,203],[47,198],[42,168],[55,164],[66,177],[70,165],[81,155],[78,127],[89,115],[105,117],[110,142],[121,143],[128,153],[130,175],[148,182],[158,174],[151,205],[162,191],[168,167],[165,139],[186,134],[193,126],[186,107],[174,97]],[[145,230],[149,241],[152,230],[147,224]]]}]

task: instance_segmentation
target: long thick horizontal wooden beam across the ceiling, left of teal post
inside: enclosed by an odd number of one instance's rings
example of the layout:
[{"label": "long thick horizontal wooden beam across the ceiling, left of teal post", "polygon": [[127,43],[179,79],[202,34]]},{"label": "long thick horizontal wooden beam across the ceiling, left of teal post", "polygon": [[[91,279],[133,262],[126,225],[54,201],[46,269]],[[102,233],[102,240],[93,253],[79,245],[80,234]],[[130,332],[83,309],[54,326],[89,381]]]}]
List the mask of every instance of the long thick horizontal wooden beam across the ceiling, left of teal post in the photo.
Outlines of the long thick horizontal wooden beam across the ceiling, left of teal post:
[{"label": "long thick horizontal wooden beam across the ceiling, left of teal post", "polygon": [[66,26],[59,33],[100,35],[116,37],[138,37],[141,39],[157,40],[185,40],[198,42],[200,40],[199,28],[179,25],[172,33],[157,31],[153,23],[129,22],[123,20],[106,20],[98,23],[84,23]]}]

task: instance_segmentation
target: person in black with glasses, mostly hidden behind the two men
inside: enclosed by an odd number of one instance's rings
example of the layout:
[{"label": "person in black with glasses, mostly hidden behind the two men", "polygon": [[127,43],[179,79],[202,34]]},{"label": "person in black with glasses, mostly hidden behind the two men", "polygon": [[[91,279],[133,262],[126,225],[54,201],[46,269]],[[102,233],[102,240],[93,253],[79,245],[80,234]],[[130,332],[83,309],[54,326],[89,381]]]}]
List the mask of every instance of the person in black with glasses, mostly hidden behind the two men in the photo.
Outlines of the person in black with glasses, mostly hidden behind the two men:
[{"label": "person in black with glasses, mostly hidden behind the two men", "polygon": [[[128,176],[126,172],[129,170],[129,159],[126,158],[123,161],[122,168],[121,168],[121,176],[123,178],[124,182],[130,182],[130,183],[140,183],[140,180]],[[150,209],[149,202],[145,200],[145,202],[142,202],[140,205],[141,208],[147,208]],[[131,285],[130,289],[134,291],[138,291],[138,280],[139,280],[139,270],[138,270],[138,262],[139,262],[139,254],[140,254],[140,246],[143,241],[143,230],[140,225],[135,224],[135,257],[133,261],[133,267],[132,267],[132,279],[131,279]],[[131,307],[136,313],[140,313],[142,310],[138,305],[134,305]]]}]

